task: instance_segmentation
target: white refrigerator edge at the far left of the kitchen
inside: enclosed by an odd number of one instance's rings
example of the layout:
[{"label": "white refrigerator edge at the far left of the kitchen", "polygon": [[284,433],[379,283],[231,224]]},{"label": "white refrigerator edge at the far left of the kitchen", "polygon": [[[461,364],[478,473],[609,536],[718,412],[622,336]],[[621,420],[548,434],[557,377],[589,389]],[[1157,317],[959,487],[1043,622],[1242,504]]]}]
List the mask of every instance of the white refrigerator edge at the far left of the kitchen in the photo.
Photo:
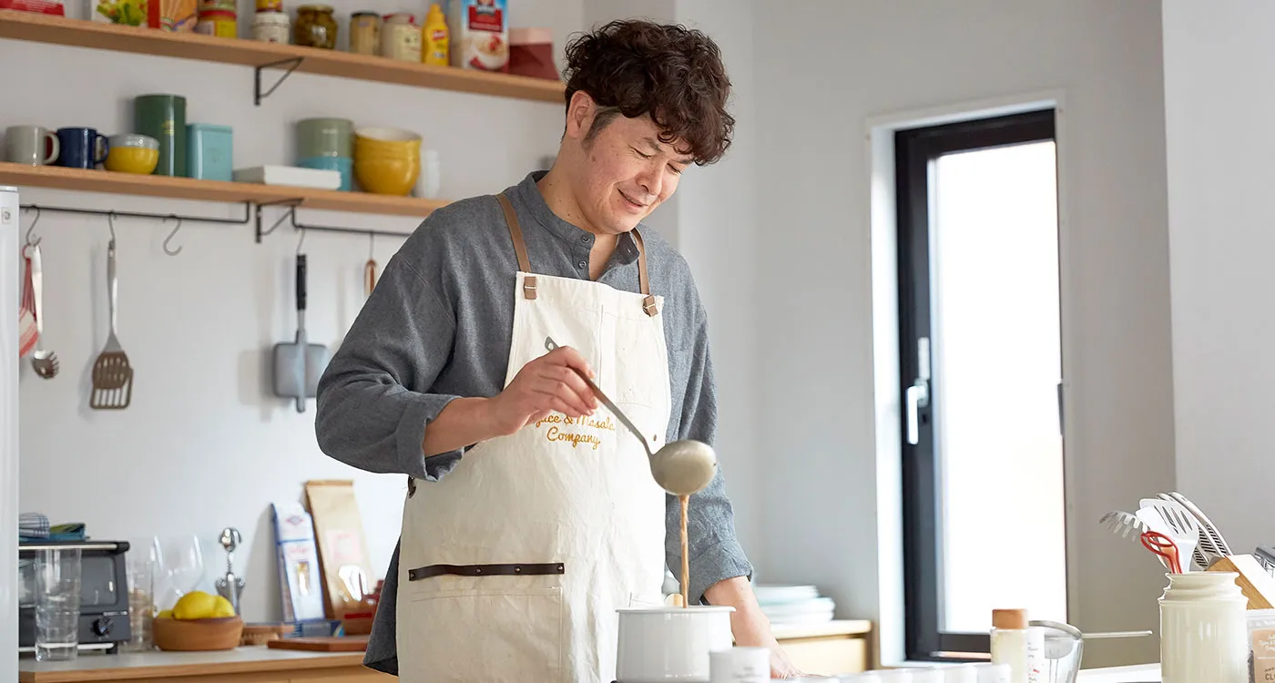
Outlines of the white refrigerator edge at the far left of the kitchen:
[{"label": "white refrigerator edge at the far left of the kitchen", "polygon": [[0,679],[18,673],[18,189],[0,185]]}]

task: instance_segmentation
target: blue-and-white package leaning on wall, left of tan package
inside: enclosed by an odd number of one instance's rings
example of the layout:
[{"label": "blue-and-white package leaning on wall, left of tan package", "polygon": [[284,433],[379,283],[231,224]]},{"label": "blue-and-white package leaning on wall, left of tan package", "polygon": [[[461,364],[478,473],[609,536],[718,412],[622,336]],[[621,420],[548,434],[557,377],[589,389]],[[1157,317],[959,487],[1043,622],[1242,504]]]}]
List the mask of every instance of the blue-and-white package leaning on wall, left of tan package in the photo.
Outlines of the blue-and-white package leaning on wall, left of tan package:
[{"label": "blue-and-white package leaning on wall, left of tan package", "polygon": [[298,502],[274,503],[283,621],[324,618],[324,589],[314,521]]}]

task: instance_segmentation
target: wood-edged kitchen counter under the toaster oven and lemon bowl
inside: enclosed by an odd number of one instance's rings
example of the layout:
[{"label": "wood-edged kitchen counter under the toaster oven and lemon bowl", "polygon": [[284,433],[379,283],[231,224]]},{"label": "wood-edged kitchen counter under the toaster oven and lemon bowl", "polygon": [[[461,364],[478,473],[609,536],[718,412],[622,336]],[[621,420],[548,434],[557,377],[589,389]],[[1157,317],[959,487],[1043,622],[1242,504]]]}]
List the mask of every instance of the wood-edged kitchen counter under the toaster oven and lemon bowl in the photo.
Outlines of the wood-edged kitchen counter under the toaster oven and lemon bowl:
[{"label": "wood-edged kitchen counter under the toaster oven and lemon bowl", "polygon": [[[70,661],[18,661],[19,683],[83,683],[87,680],[244,680],[252,683],[317,683],[395,680],[362,665],[363,652],[306,652],[265,646],[215,652],[80,654]],[[227,678],[233,677],[233,678]]]}]

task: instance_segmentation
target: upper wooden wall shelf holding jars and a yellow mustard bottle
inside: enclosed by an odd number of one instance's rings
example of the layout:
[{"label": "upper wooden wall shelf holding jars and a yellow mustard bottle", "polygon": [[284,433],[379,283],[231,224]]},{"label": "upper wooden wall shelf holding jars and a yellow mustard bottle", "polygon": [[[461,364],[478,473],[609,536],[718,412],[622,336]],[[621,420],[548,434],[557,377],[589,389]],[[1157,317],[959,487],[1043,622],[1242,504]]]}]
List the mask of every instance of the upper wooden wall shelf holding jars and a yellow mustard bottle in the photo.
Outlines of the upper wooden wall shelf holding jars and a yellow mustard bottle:
[{"label": "upper wooden wall shelf holding jars and a yellow mustard bottle", "polygon": [[0,10],[0,38],[218,64],[236,64],[252,68],[278,65],[288,60],[301,59],[297,71],[306,74],[509,97],[534,102],[562,103],[565,93],[565,85],[557,80],[474,71],[453,66],[414,64],[370,55],[353,55],[335,50],[320,50],[317,47],[296,45],[266,43],[246,38],[219,38],[201,33],[172,33],[152,28],[68,19],[65,17],[9,9]]}]

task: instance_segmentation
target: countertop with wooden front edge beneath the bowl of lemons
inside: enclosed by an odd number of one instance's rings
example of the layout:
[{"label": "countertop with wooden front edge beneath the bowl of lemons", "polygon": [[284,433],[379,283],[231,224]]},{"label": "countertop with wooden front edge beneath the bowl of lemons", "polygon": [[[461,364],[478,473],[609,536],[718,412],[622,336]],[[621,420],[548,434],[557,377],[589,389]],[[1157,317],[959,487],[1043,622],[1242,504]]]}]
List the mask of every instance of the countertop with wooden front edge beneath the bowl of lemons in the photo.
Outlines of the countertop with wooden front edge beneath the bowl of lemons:
[{"label": "countertop with wooden front edge beneath the bowl of lemons", "polygon": [[70,661],[18,660],[20,683],[66,683],[76,680],[138,680],[196,673],[260,673],[298,669],[361,666],[363,652],[307,652],[274,650],[261,645],[215,652],[124,652],[80,654]]}]

